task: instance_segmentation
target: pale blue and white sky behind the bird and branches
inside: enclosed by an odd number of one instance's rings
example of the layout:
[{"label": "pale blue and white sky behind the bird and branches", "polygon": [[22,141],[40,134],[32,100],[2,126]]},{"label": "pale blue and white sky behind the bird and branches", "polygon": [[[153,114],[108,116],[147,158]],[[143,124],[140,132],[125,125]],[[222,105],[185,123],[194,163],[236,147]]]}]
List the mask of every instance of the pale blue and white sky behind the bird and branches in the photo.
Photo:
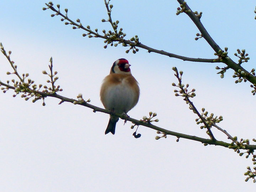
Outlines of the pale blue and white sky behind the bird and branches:
[{"label": "pale blue and white sky behind the bird and branches", "polygon": [[[194,121],[196,115],[181,97],[174,96],[172,82],[176,66],[182,70],[183,83],[196,89],[194,105],[200,110],[222,115],[218,124],[232,136],[256,138],[254,128],[255,97],[248,82],[235,84],[233,71],[220,79],[217,64],[183,62],[140,49],[126,54],[118,46],[104,49],[102,39],[82,37],[82,30],[65,26],[59,16],[43,11],[46,1],[0,2],[0,42],[11,50],[11,59],[18,72],[29,73],[37,84],[47,85],[49,58],[53,57],[58,71],[60,95],[76,98],[79,93],[91,104],[103,108],[99,91],[103,78],[113,62],[126,58],[140,84],[140,100],[128,114],[135,119],[156,112],[156,126],[175,132],[208,138]],[[110,30],[102,23],[107,19],[103,0],[53,1],[74,21],[80,18],[84,26]],[[255,4],[244,1],[188,0],[193,11],[202,11],[201,21],[220,47],[228,47],[229,56],[236,49],[245,49],[251,58],[243,64],[247,70],[256,68]],[[185,14],[176,16],[177,1],[112,0],[113,20],[127,38],[138,35],[143,44],[167,52],[199,58],[214,58],[214,52],[204,39],[194,41],[197,30]],[[224,65],[218,64],[223,67]],[[0,80],[15,78],[4,55],[0,54]],[[108,114],[46,98],[32,103],[13,91],[0,93],[0,191],[252,191],[252,180],[245,182],[246,167],[251,158],[240,157],[231,149],[203,146],[187,139],[167,136],[155,140],[155,130],[140,126],[135,139],[132,125],[119,120],[116,134],[105,135]],[[215,138],[226,139],[212,129]]]}]

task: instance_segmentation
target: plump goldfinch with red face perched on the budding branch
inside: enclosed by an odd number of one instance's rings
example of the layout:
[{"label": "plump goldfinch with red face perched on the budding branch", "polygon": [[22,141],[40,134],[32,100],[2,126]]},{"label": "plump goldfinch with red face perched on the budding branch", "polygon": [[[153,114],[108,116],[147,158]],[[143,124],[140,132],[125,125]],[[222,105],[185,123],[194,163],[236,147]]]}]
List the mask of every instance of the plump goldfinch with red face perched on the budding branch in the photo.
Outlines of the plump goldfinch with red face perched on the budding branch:
[{"label": "plump goldfinch with red face perched on the budding branch", "polygon": [[[132,76],[130,66],[127,59],[117,59],[111,67],[110,74],[103,79],[100,100],[105,109],[111,112],[127,115],[139,101],[139,83]],[[110,114],[105,134],[111,132],[114,135],[118,119]]]}]

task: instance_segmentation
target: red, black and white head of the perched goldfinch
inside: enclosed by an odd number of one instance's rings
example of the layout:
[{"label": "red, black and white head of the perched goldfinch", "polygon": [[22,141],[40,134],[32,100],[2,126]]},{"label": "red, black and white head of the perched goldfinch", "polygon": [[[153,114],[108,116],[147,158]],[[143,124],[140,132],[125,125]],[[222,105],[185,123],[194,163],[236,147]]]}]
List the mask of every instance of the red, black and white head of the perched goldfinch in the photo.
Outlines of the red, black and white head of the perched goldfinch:
[{"label": "red, black and white head of the perched goldfinch", "polygon": [[130,72],[130,64],[126,59],[117,59],[111,68],[110,73],[116,74],[131,74]]}]

